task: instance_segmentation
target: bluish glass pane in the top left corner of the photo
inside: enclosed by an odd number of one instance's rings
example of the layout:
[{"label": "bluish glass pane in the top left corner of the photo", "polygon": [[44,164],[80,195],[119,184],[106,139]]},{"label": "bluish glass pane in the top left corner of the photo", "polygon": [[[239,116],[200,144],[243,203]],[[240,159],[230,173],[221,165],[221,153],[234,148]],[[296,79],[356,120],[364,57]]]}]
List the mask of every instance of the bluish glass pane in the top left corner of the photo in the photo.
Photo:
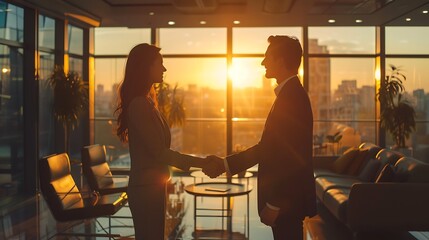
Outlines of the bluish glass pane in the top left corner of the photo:
[{"label": "bluish glass pane in the top left corner of the photo", "polygon": [[0,1],[0,38],[24,42],[24,9]]}]

